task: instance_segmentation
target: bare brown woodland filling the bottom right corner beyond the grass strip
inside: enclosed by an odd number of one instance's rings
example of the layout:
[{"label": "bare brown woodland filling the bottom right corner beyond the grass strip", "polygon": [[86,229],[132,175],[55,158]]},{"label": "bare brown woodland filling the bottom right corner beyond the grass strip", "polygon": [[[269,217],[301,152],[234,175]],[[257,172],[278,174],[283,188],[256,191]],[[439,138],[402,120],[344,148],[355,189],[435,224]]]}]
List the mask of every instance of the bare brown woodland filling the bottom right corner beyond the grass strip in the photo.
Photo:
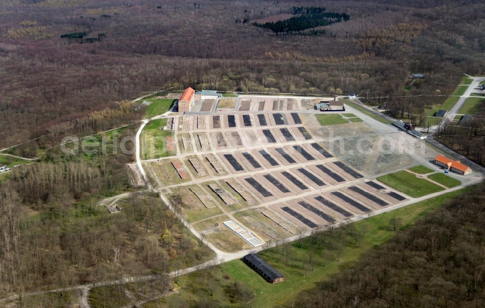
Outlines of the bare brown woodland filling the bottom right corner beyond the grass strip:
[{"label": "bare brown woodland filling the bottom right corner beyond the grass strip", "polygon": [[483,307],[484,191],[449,201],[290,307]]}]

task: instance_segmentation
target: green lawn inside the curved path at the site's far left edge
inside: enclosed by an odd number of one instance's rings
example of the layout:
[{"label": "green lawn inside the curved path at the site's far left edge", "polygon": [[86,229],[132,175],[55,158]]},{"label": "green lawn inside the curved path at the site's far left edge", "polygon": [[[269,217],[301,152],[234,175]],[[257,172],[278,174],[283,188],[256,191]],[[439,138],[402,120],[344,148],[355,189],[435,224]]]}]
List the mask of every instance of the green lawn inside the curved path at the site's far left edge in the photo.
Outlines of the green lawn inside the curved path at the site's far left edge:
[{"label": "green lawn inside the curved path at the site's far left edge", "polygon": [[175,142],[174,132],[172,130],[160,130],[161,127],[167,124],[167,119],[157,119],[150,121],[143,128],[140,136],[141,155],[144,159],[167,157],[175,155],[176,147],[174,149],[167,149],[167,137],[171,137]]}]

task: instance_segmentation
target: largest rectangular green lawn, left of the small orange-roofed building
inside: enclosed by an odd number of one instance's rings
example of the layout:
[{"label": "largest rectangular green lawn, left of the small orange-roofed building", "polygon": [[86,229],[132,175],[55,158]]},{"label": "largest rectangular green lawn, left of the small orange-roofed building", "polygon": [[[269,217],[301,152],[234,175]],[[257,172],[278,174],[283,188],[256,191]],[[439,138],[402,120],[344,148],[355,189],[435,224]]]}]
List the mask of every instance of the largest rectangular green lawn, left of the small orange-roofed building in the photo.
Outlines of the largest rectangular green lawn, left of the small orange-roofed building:
[{"label": "largest rectangular green lawn, left of the small orange-roofed building", "polygon": [[405,170],[380,176],[377,180],[414,198],[444,190],[443,187],[417,178],[415,174]]}]

